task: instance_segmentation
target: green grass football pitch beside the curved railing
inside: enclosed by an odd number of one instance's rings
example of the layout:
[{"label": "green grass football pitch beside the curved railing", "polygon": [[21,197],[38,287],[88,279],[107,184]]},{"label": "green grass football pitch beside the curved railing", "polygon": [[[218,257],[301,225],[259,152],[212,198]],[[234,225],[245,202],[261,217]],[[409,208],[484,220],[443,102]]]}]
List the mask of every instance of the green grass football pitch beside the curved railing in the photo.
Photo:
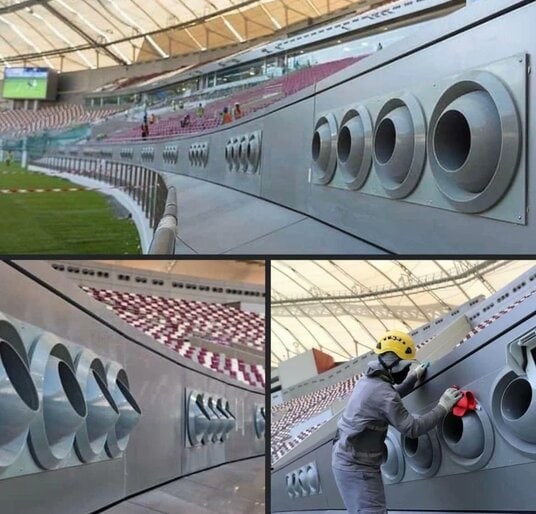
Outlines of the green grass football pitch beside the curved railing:
[{"label": "green grass football pitch beside the curved railing", "polygon": [[[80,187],[0,163],[0,190]],[[136,226],[94,191],[0,192],[0,254],[139,254]]]}]

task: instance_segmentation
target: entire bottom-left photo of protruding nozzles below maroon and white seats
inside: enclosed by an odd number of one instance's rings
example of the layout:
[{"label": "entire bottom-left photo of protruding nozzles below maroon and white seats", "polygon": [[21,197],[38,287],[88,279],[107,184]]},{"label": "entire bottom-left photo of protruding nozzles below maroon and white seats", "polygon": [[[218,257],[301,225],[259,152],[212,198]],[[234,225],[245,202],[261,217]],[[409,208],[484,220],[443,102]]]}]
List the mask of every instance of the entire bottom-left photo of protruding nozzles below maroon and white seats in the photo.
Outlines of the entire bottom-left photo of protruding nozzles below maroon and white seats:
[{"label": "entire bottom-left photo of protruding nozzles below maroon and white seats", "polygon": [[0,261],[0,511],[265,512],[265,263]]}]

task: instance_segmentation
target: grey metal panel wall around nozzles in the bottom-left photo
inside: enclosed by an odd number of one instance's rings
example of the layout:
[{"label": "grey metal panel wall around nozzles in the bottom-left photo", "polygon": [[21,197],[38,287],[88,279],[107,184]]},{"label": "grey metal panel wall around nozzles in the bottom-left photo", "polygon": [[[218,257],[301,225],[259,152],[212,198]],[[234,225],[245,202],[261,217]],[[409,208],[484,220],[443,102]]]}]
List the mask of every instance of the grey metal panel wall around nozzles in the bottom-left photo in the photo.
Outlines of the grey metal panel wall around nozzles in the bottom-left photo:
[{"label": "grey metal panel wall around nozzles in the bottom-left photo", "polygon": [[[91,349],[120,363],[142,415],[126,451],[113,460],[82,464],[72,450],[59,469],[42,471],[26,448],[0,475],[30,473],[0,479],[1,512],[92,512],[184,473],[264,453],[264,439],[253,425],[255,406],[264,405],[262,392],[215,375],[128,327],[47,264],[16,264],[20,268],[0,262],[0,284],[9,292],[0,296],[0,311],[27,324],[18,325],[25,346],[32,343],[31,324],[61,337],[69,349]],[[226,442],[186,447],[186,387],[229,400],[237,423]]]}]

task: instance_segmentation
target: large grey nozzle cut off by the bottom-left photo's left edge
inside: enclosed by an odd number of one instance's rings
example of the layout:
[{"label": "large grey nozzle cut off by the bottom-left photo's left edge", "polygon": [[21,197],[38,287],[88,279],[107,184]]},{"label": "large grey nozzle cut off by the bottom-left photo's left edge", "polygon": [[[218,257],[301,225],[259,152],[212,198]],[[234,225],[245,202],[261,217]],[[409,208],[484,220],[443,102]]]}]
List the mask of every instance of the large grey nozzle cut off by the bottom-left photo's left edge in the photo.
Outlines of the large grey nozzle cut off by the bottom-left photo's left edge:
[{"label": "large grey nozzle cut off by the bottom-left photo's left edge", "polygon": [[26,445],[39,397],[24,359],[0,339],[0,468],[13,464]]}]

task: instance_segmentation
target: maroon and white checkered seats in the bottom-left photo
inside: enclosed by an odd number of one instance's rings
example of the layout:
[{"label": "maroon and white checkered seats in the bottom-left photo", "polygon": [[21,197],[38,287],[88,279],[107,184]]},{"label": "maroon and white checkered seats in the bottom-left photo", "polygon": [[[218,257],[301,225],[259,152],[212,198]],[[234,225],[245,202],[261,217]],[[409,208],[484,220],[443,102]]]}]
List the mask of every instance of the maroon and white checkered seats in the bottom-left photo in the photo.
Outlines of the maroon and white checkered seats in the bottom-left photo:
[{"label": "maroon and white checkered seats in the bottom-left photo", "polygon": [[[198,336],[225,346],[231,342],[264,350],[264,320],[254,313],[192,300],[124,293],[83,286],[90,296],[107,305],[129,325],[149,335],[183,357],[253,387],[264,388],[264,367],[248,364],[224,353],[192,345]],[[221,311],[231,310],[223,314]],[[262,334],[262,335],[261,335]],[[247,341],[247,342],[246,342]]]}]

